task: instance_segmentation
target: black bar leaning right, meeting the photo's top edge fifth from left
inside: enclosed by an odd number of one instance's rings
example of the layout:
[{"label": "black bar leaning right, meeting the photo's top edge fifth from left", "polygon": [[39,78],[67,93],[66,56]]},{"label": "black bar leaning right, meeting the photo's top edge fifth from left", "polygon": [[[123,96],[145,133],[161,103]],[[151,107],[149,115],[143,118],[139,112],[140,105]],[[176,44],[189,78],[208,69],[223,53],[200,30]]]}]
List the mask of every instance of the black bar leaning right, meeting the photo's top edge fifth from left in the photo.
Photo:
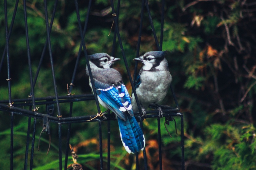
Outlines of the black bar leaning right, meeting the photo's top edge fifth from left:
[{"label": "black bar leaning right, meeting the photo's top edge fifth from left", "polygon": [[[49,33],[51,33],[51,31],[52,31],[52,25],[53,25],[53,20],[54,20],[55,13],[56,13],[57,2],[58,2],[58,0],[56,0],[55,3],[54,3],[52,18],[51,18],[50,27],[49,27]],[[43,46],[43,51],[42,51],[42,54],[41,54],[41,57],[40,57],[40,60],[39,60],[39,64],[38,64],[38,67],[37,67],[37,70],[36,70],[36,73],[35,73],[35,77],[34,77],[34,81],[33,81],[33,88],[35,88],[35,83],[36,83],[37,77],[39,75],[39,71],[40,71],[40,68],[41,68],[41,65],[42,65],[42,62],[43,62],[43,57],[44,57],[44,54],[45,54],[45,51],[46,51],[46,48],[47,48],[47,44],[48,44],[48,39],[46,38],[44,46]],[[30,96],[31,96],[31,92],[30,92]]]}]

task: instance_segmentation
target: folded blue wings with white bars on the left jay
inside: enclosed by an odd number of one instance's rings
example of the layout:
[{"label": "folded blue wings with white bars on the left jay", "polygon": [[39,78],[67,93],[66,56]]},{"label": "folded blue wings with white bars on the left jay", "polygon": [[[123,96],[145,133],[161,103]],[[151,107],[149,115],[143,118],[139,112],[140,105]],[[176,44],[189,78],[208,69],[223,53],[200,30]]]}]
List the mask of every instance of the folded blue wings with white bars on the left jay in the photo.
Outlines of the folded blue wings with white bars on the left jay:
[{"label": "folded blue wings with white bars on the left jay", "polygon": [[133,116],[131,101],[123,83],[109,85],[94,80],[98,97],[122,120],[127,120],[126,111]]}]

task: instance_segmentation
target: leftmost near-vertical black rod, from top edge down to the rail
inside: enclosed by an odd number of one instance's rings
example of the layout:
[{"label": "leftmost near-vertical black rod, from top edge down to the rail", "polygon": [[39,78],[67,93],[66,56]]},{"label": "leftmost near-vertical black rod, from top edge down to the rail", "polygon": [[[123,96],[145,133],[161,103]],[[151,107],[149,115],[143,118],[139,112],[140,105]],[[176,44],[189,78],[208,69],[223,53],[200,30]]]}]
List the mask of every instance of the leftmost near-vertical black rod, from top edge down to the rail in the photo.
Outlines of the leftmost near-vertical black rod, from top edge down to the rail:
[{"label": "leftmost near-vertical black rod, from top edge down to the rail", "polygon": [[9,103],[11,103],[11,76],[10,76],[10,56],[8,41],[8,22],[7,22],[7,2],[4,0],[4,21],[5,21],[5,38],[6,38],[6,55],[7,55],[7,73],[8,73],[8,95]]}]

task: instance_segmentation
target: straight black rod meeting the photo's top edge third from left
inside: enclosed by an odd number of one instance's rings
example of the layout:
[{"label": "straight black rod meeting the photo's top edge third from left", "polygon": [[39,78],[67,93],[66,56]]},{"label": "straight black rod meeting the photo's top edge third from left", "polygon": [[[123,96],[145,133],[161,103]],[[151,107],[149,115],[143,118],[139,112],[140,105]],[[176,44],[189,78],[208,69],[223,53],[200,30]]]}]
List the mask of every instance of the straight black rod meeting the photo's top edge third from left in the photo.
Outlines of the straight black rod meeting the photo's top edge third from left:
[{"label": "straight black rod meeting the photo's top edge third from left", "polygon": [[31,57],[30,57],[30,46],[29,46],[28,27],[27,27],[26,0],[23,0],[23,9],[24,9],[24,22],[25,22],[25,33],[26,33],[26,43],[27,43],[27,60],[28,60],[28,68],[29,68],[29,80],[30,80],[30,90],[31,90],[31,97],[32,97],[32,108],[35,109],[35,95],[34,95],[32,66],[31,66]]}]

